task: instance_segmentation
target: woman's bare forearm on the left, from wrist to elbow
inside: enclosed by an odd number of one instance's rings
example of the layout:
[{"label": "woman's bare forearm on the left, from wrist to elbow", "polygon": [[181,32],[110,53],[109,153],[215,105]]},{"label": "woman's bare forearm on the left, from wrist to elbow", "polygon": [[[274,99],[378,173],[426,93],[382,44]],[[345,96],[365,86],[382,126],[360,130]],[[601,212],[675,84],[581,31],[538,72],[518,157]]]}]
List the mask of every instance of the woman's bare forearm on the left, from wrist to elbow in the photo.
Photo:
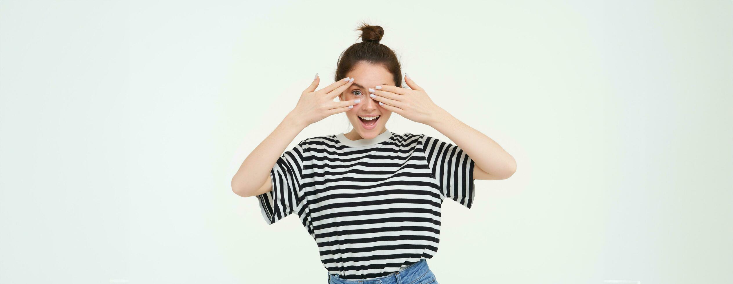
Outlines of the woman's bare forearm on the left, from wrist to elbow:
[{"label": "woman's bare forearm on the left, from wrist to elbow", "polygon": [[267,182],[275,162],[306,126],[298,117],[288,113],[275,130],[244,159],[232,177],[232,191],[237,195],[248,197],[262,187]]}]

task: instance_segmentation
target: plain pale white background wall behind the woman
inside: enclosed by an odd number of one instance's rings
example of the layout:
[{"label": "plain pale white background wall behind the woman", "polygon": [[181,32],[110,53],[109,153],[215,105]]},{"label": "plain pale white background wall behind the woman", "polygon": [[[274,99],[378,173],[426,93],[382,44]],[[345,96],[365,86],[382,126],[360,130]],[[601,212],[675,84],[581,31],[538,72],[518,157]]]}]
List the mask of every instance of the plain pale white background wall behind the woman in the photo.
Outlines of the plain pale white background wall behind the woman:
[{"label": "plain pale white background wall behind the woman", "polygon": [[732,1],[4,0],[0,283],[325,283],[229,181],[361,20],[517,160],[443,203],[440,283],[733,282]]}]

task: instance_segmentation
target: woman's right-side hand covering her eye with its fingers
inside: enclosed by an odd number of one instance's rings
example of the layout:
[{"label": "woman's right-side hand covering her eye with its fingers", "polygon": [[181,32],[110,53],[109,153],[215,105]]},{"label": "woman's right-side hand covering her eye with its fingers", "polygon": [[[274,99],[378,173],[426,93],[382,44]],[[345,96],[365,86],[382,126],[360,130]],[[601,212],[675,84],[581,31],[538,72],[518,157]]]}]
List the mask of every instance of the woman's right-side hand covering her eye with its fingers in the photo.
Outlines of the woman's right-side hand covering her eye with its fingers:
[{"label": "woman's right-side hand covering her eye with its fingers", "polygon": [[405,119],[421,124],[429,124],[431,119],[435,119],[438,113],[445,111],[435,105],[427,96],[425,90],[417,86],[407,74],[405,74],[405,83],[408,84],[410,89],[388,85],[369,88],[369,91],[374,94],[374,96],[372,94],[370,96],[388,111],[398,113]]}]

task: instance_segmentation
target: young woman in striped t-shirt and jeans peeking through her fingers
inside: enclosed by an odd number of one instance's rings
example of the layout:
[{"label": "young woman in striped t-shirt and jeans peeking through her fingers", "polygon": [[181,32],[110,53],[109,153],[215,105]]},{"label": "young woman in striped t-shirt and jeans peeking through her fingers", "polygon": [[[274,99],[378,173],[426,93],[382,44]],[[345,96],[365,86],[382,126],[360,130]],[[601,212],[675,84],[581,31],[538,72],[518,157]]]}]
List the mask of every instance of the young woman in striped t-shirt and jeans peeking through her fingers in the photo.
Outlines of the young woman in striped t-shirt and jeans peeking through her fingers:
[{"label": "young woman in striped t-shirt and jeans peeking through her fingers", "polygon": [[[268,224],[297,213],[320,247],[328,283],[437,283],[426,259],[438,252],[443,199],[471,208],[474,180],[507,179],[516,162],[435,105],[407,74],[410,89],[401,87],[397,56],[379,43],[384,30],[359,30],[362,42],[342,53],[336,82],[316,90],[316,74],[244,160],[232,190],[257,196]],[[393,112],[456,144],[389,131]],[[303,128],[336,113],[346,113],[353,130],[308,138],[283,153]]]}]

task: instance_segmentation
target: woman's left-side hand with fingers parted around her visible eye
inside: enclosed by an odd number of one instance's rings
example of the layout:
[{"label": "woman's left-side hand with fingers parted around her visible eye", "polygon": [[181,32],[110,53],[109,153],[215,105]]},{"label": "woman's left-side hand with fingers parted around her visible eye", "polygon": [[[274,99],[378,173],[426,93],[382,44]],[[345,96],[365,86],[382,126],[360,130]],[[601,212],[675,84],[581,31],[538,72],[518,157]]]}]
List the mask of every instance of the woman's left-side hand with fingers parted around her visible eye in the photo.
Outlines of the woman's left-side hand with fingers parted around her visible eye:
[{"label": "woman's left-side hand with fingers parted around her visible eye", "polygon": [[343,78],[323,89],[314,91],[320,82],[320,78],[316,76],[311,86],[303,91],[301,98],[298,99],[298,105],[295,105],[295,109],[290,111],[289,115],[306,127],[328,116],[350,110],[358,100],[336,102],[334,99],[351,86],[353,81],[354,78]]}]

